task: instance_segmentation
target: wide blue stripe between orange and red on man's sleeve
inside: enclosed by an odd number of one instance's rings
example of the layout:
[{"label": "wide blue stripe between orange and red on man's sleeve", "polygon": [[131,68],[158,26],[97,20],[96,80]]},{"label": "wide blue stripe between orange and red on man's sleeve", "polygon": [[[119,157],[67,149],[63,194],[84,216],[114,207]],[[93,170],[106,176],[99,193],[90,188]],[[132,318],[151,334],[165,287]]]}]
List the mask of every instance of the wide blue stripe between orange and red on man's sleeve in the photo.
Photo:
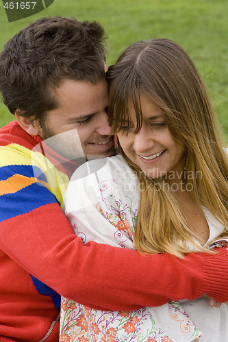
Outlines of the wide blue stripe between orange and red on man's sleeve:
[{"label": "wide blue stripe between orange and red on man's sleeve", "polygon": [[56,202],[58,200],[47,187],[33,183],[14,194],[0,196],[0,222]]}]

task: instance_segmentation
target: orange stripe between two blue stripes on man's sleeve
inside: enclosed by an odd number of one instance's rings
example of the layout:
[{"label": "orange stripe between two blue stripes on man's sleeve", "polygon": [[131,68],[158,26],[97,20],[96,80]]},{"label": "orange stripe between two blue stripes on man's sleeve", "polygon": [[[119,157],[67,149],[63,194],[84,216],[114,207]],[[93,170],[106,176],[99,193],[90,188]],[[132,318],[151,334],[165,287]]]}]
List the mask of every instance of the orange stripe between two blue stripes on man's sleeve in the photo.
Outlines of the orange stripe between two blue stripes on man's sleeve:
[{"label": "orange stripe between two blue stripes on man's sleeve", "polygon": [[[0,196],[5,194],[14,194],[15,192],[23,189],[23,187],[36,183],[36,181],[37,180],[34,177],[28,178],[22,174],[14,174],[5,181],[0,181]],[[45,182],[40,183],[43,185],[46,184]]]}]

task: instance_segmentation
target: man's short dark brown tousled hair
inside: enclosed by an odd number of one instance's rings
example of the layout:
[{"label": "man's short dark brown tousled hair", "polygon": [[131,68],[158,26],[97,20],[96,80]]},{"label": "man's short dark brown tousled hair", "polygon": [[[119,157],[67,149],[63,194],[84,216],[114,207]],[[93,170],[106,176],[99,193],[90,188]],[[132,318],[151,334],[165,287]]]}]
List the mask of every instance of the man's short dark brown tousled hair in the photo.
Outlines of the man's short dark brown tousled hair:
[{"label": "man's short dark brown tousled hair", "polygon": [[64,79],[93,84],[105,76],[105,33],[99,23],[40,18],[12,37],[0,54],[0,91],[11,111],[38,120],[58,106]]}]

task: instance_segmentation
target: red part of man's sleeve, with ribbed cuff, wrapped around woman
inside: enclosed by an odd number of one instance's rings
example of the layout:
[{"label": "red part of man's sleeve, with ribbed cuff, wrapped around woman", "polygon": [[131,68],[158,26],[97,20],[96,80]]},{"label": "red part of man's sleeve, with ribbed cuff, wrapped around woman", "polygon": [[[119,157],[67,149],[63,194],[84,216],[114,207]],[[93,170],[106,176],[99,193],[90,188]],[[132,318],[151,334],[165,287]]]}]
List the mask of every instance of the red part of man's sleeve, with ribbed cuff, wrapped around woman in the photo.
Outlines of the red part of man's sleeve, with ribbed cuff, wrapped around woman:
[{"label": "red part of man's sleeve, with ribbed cuff, wrapped around woman", "polygon": [[228,300],[225,248],[181,260],[94,242],[84,246],[58,204],[2,222],[0,248],[64,297],[93,308],[130,311],[203,293]]}]

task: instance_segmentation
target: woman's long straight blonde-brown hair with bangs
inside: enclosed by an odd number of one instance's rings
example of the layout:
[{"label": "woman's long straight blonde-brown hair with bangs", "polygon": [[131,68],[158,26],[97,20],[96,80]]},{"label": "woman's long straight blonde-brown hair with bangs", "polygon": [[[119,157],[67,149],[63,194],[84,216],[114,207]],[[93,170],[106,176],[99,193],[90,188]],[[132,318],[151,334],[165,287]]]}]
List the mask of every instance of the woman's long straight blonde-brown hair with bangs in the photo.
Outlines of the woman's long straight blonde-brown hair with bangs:
[{"label": "woman's long straight blonde-brown hair with bangs", "polygon": [[[129,106],[134,106],[137,127],[142,124],[140,93],[164,114],[173,138],[186,148],[186,181],[192,198],[225,226],[228,236],[228,156],[220,139],[210,97],[188,54],[167,39],[136,42],[107,72],[110,92],[110,126],[126,130]],[[131,107],[132,108],[132,107]],[[186,243],[199,248],[197,235],[184,217],[173,191],[163,179],[149,179],[121,152],[140,182],[140,207],[134,246],[141,252],[168,252],[177,257],[189,252]],[[190,175],[190,176],[189,176]],[[195,176],[192,176],[195,175]],[[200,175],[200,176],[199,176]],[[203,209],[202,209],[203,212]],[[198,239],[199,240],[199,239]],[[201,250],[205,248],[200,247]],[[208,250],[207,250],[208,251]]]}]

